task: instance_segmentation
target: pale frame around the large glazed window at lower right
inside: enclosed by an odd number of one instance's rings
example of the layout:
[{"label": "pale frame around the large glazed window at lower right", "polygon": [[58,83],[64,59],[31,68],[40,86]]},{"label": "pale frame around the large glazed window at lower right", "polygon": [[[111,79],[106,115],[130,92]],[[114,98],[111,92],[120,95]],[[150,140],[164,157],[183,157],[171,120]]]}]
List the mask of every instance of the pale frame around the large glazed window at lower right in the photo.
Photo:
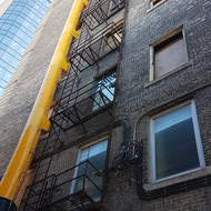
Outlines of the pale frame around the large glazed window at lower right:
[{"label": "pale frame around the large glazed window at lower right", "polygon": [[[162,179],[157,179],[155,173],[157,173],[157,167],[155,167],[155,139],[154,139],[154,119],[163,117],[168,113],[171,113],[173,111],[177,111],[179,109],[182,109],[185,105],[191,107],[191,115],[192,115],[192,123],[193,123],[193,130],[194,130],[194,137],[195,137],[195,145],[197,145],[197,152],[198,152],[198,158],[199,158],[199,167],[194,169],[190,169],[180,173],[175,173]],[[197,117],[197,108],[194,100],[187,101],[184,103],[181,103],[177,107],[173,107],[171,109],[168,109],[163,112],[160,112],[159,114],[154,114],[150,117],[150,181],[152,183],[154,182],[160,182],[164,181],[171,178],[180,177],[183,174],[188,174],[194,171],[199,171],[205,167],[205,161],[204,161],[204,153],[203,153],[203,147],[201,142],[201,137],[200,137],[200,129],[199,129],[199,121]]]}]

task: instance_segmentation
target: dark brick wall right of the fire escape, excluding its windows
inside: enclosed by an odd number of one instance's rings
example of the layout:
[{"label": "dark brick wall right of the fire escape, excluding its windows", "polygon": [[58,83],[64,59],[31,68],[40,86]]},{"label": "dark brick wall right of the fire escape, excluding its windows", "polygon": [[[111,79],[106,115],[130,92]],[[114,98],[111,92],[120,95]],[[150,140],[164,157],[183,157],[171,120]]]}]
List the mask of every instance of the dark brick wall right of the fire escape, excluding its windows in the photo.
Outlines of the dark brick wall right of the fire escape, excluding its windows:
[{"label": "dark brick wall right of the fire escape, excluding its windows", "polygon": [[[210,8],[211,3],[205,0],[168,0],[153,10],[149,10],[148,0],[129,1],[114,117],[115,121],[129,119],[131,131],[135,121],[142,117],[137,128],[137,140],[143,140],[143,181],[148,190],[211,173]],[[184,30],[188,66],[161,80],[150,82],[150,43],[180,26],[183,26]],[[188,100],[195,102],[205,168],[151,184],[149,118]],[[122,139],[112,139],[110,161],[121,143]],[[122,171],[109,171],[104,210],[209,211],[210,200],[211,187],[207,187],[144,201],[138,197],[137,167],[131,164],[129,169]]]}]

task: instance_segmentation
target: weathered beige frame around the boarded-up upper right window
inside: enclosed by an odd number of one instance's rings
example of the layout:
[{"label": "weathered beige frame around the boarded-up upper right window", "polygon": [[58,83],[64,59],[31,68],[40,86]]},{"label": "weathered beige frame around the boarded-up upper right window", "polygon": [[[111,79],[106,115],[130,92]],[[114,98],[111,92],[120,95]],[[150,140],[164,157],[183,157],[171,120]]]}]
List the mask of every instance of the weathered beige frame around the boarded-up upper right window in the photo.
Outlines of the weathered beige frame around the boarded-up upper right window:
[{"label": "weathered beige frame around the boarded-up upper right window", "polygon": [[[172,38],[177,38],[178,34],[182,36],[182,40],[183,40],[183,44],[184,44],[184,54],[185,54],[185,60],[187,62],[179,64],[177,68],[168,71],[167,73],[160,76],[159,78],[155,78],[155,48],[158,46],[162,46],[162,43],[168,42],[168,40],[172,39]],[[177,40],[177,39],[172,39],[172,42]],[[168,42],[168,43],[171,43]],[[164,47],[165,44],[163,44]],[[168,44],[167,44],[168,46]],[[169,33],[162,36],[161,38],[159,38],[158,40],[153,41],[152,43],[149,44],[149,60],[150,60],[150,70],[149,70],[149,80],[150,82],[154,81],[154,80],[159,80],[162,79],[165,76],[171,74],[172,72],[174,72],[175,70],[180,70],[183,66],[185,66],[189,62],[189,56],[188,56],[188,50],[187,50],[187,41],[185,41],[185,33],[184,33],[184,29],[183,26],[178,27],[177,29],[170,31]]]}]

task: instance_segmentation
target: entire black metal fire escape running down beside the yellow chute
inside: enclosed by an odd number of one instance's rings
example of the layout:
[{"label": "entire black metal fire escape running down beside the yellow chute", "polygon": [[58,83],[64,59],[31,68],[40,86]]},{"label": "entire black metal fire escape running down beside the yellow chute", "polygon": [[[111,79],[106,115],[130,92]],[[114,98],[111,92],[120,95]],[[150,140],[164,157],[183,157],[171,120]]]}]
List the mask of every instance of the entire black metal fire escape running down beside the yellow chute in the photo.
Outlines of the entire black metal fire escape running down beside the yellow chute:
[{"label": "entire black metal fire escape running down beside the yellow chute", "polygon": [[80,37],[74,40],[70,70],[52,108],[51,128],[39,141],[33,183],[26,189],[21,202],[23,211],[100,210],[104,174],[89,160],[58,174],[49,175],[49,169],[53,154],[63,147],[66,131],[81,127],[87,132],[88,120],[102,112],[111,115],[115,72],[81,87],[78,82],[80,72],[98,67],[102,59],[119,52],[122,23],[112,23],[109,19],[123,8],[124,0],[92,0],[81,16]]}]

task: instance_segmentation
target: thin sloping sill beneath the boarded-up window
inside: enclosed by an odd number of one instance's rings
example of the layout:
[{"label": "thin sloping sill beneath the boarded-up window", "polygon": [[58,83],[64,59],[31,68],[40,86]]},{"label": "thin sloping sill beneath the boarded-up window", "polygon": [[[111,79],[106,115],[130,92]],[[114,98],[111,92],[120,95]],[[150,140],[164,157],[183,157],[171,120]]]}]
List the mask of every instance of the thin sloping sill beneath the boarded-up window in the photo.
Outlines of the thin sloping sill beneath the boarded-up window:
[{"label": "thin sloping sill beneath the boarded-up window", "polygon": [[184,64],[178,67],[177,69],[174,69],[174,70],[168,72],[167,74],[163,74],[163,76],[160,77],[159,79],[154,79],[153,81],[148,82],[147,84],[144,84],[144,88],[149,88],[150,86],[153,86],[153,84],[160,82],[161,80],[163,80],[163,79],[165,79],[165,78],[168,78],[168,77],[170,77],[170,76],[172,76],[172,74],[174,74],[174,73],[177,73],[177,72],[180,72],[180,71],[182,71],[182,70],[185,70],[187,68],[189,68],[189,67],[191,67],[191,66],[192,66],[192,60],[190,60],[190,61],[188,61],[187,63],[184,63]]}]

